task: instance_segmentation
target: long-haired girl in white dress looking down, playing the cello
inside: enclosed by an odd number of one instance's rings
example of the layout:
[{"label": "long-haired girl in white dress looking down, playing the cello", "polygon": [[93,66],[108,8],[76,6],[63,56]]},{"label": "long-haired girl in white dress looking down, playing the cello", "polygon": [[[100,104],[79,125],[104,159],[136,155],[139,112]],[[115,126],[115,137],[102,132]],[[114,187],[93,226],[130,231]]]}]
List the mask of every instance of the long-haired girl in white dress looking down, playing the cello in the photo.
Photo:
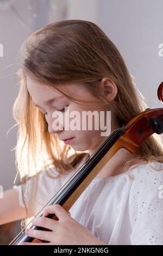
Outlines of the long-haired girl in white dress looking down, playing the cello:
[{"label": "long-haired girl in white dress looking down, playing the cello", "polygon": [[[21,56],[14,103],[21,185],[4,193],[1,223],[36,215],[106,138],[95,120],[91,130],[67,130],[67,121],[54,125],[53,113],[110,111],[112,132],[145,110],[120,52],[92,22],[45,26],[24,42]],[[70,212],[54,205],[34,218],[52,231],[27,235],[49,241],[35,245],[162,245],[160,138],[149,137],[135,154],[118,150]],[[46,218],[52,213],[59,221]]]}]

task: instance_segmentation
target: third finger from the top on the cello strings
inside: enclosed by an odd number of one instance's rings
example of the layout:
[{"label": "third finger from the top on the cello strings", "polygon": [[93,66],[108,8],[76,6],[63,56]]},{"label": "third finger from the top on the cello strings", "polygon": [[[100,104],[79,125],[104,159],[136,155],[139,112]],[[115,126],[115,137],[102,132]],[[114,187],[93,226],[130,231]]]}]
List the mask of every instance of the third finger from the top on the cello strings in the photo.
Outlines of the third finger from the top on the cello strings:
[{"label": "third finger from the top on the cello strings", "polygon": [[53,231],[43,231],[43,230],[35,230],[35,229],[27,229],[26,235],[30,237],[37,238],[39,240],[45,240],[51,242]]}]

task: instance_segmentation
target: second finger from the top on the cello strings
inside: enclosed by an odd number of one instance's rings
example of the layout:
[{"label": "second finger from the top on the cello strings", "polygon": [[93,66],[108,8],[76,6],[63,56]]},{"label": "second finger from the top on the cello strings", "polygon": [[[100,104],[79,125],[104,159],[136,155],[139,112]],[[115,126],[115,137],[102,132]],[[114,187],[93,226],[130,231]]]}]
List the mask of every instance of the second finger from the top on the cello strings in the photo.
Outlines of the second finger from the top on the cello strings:
[{"label": "second finger from the top on the cello strings", "polygon": [[32,223],[37,227],[47,228],[56,231],[58,221],[46,217],[37,217],[32,220]]}]

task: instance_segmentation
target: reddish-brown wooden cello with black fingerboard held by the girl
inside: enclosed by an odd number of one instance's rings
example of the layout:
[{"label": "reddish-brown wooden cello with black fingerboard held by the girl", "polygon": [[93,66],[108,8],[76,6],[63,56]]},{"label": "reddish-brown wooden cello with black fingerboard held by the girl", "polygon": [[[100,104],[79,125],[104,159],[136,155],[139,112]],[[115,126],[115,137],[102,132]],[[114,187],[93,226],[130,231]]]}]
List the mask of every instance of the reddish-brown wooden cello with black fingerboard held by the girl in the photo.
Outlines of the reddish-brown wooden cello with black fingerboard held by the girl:
[{"label": "reddish-brown wooden cello with black fingerboard held by the girl", "polygon": [[[163,82],[158,88],[158,98],[163,102]],[[131,119],[127,125],[114,130],[45,207],[47,205],[60,204],[66,211],[70,210],[85,188],[119,149],[125,148],[130,153],[135,153],[145,139],[154,133],[158,135],[163,133],[163,108],[147,108]],[[35,217],[42,217],[45,207]],[[58,220],[55,214],[49,214],[46,217]],[[22,242],[40,242],[34,237],[27,236],[25,233],[26,228],[47,230],[42,227],[36,227],[31,221],[9,245],[21,245]]]}]

